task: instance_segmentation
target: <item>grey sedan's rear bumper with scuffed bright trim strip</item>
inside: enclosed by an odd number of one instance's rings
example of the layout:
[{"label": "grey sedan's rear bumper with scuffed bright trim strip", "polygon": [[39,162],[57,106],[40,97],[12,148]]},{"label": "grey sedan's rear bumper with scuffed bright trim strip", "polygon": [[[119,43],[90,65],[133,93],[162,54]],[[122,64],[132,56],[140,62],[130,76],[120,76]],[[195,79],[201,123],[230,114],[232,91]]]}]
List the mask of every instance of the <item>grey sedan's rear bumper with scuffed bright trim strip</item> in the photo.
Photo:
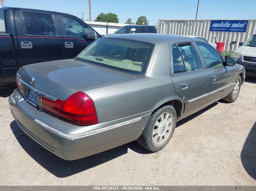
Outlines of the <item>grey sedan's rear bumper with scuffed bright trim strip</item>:
[{"label": "grey sedan's rear bumper with scuffed bright trim strip", "polygon": [[9,104],[21,129],[65,160],[87,157],[136,140],[151,115],[148,111],[92,126],[76,126],[39,111],[24,100],[17,89],[9,97]]}]

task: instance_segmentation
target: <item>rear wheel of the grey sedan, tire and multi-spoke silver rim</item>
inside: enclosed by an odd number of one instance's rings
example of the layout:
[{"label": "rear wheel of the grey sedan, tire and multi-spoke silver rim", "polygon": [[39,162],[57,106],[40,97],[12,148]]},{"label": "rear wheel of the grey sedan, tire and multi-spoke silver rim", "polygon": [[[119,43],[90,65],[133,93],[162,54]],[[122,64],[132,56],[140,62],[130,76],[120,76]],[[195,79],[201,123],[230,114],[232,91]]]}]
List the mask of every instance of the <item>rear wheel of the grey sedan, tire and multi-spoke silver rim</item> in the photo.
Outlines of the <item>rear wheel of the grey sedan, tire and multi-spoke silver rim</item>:
[{"label": "rear wheel of the grey sedan, tire and multi-spoke silver rim", "polygon": [[137,139],[145,149],[160,151],[170,141],[177,122],[177,115],[172,105],[166,105],[151,114],[148,122]]}]

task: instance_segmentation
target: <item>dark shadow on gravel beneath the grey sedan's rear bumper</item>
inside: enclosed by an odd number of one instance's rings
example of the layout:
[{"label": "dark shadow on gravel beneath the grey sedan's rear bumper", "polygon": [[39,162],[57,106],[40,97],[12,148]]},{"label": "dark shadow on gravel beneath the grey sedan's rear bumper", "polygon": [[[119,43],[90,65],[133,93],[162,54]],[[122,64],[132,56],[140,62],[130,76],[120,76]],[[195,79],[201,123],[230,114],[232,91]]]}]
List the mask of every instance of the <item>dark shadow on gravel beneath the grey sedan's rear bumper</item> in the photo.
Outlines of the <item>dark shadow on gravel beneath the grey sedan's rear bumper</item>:
[{"label": "dark shadow on gravel beneath the grey sedan's rear bumper", "polygon": [[151,152],[142,148],[136,141],[125,145],[104,151],[86,158],[81,158],[75,161],[66,161],[57,157],[55,154],[43,148],[33,139],[28,137],[25,132],[18,126],[15,121],[10,124],[13,134],[22,148],[32,157],[38,164],[48,170],[56,177],[63,178],[74,175],[76,173],[88,170],[112,159],[118,158],[127,153],[128,148],[140,153],[150,154]]}]

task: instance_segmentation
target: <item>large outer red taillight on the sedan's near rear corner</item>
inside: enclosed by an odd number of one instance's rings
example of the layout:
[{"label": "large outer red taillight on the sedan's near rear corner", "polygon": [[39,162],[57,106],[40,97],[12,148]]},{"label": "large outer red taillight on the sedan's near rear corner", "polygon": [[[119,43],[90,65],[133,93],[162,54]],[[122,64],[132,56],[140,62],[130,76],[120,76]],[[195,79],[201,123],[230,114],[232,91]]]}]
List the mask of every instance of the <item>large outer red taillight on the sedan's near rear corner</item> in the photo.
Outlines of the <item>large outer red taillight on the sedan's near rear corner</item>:
[{"label": "large outer red taillight on the sedan's near rear corner", "polygon": [[72,94],[63,103],[58,119],[75,125],[92,125],[98,123],[92,99],[81,91]]}]

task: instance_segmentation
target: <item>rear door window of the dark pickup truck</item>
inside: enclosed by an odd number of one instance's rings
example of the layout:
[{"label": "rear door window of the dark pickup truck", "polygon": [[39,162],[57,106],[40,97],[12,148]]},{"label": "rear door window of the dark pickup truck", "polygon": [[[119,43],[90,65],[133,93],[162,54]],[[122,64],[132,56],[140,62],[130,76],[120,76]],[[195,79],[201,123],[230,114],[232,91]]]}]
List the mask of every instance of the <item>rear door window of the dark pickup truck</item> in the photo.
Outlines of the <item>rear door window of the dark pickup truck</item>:
[{"label": "rear door window of the dark pickup truck", "polygon": [[22,24],[28,35],[56,35],[52,14],[23,12]]}]

